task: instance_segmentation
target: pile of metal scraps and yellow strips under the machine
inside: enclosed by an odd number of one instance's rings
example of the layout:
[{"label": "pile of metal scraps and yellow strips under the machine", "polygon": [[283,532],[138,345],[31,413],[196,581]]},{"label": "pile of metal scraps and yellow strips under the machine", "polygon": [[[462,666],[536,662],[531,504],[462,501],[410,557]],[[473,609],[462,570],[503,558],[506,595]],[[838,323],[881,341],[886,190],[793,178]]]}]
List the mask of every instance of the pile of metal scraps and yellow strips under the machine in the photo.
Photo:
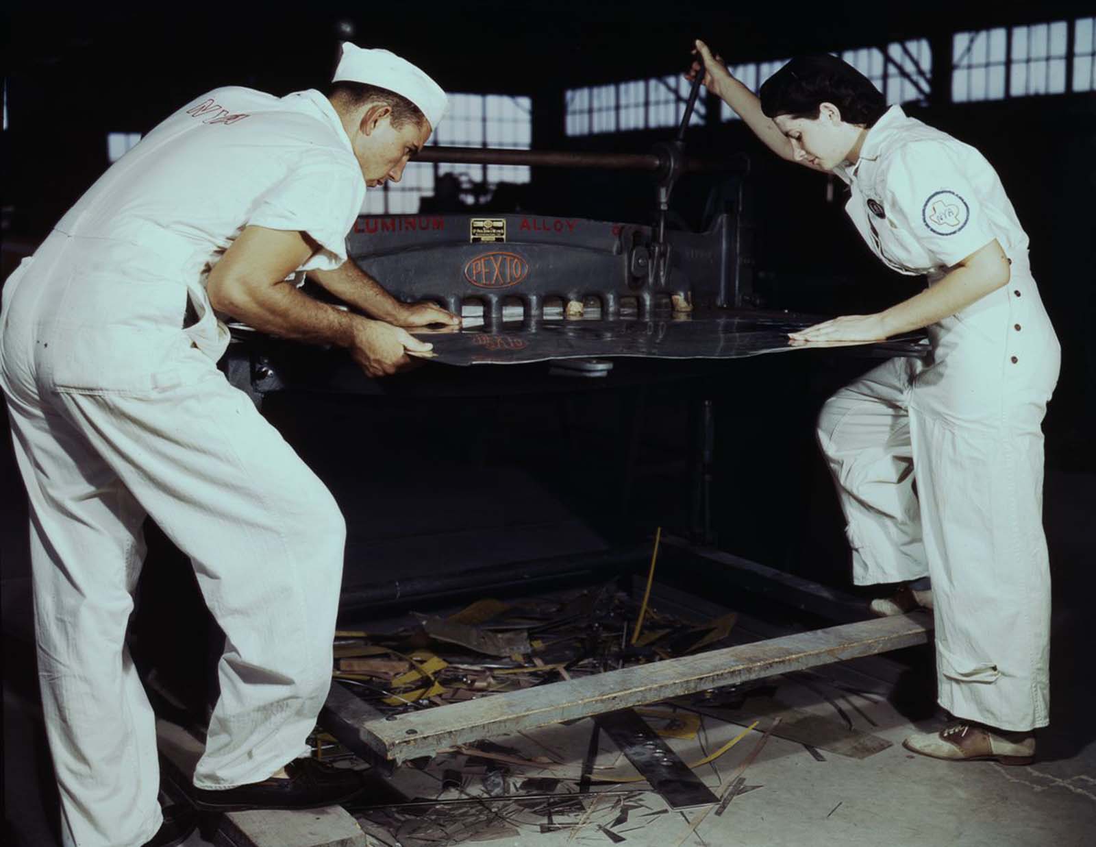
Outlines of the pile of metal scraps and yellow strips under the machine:
[{"label": "pile of metal scraps and yellow strips under the machine", "polygon": [[[614,580],[510,602],[482,599],[444,618],[412,616],[393,632],[340,632],[333,675],[392,719],[718,650],[735,636],[749,640],[738,620],[734,612],[703,622],[660,612]],[[789,687],[837,720],[797,708]],[[744,773],[770,734],[819,760],[821,750],[864,758],[889,747],[853,725],[856,714],[875,726],[869,712],[880,699],[814,674],[757,680],[455,745],[398,768],[380,783],[390,795],[370,791],[347,808],[378,843],[404,847],[523,834],[546,844],[580,834],[619,844],[651,826],[665,827],[667,845],[682,844],[709,813],[722,815],[763,787],[747,784]],[[726,755],[751,734],[745,754]],[[362,766],[332,736],[318,733],[315,745],[326,760]],[[683,822],[682,810],[697,811]]]}]

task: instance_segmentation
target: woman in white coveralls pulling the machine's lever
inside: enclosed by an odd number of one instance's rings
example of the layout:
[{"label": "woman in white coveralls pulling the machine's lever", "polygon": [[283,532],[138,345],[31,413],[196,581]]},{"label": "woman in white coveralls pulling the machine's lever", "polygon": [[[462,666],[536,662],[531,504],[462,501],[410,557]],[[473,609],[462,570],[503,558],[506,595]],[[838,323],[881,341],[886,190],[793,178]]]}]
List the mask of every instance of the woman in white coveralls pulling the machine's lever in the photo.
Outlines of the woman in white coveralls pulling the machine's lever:
[{"label": "woman in white coveralls pulling the machine's lever", "polygon": [[978,150],[888,109],[841,59],[792,59],[758,99],[703,42],[696,47],[709,90],[781,158],[838,176],[871,251],[927,278],[902,303],[826,320],[791,342],[927,331],[929,360],[892,359],[840,391],[822,409],[818,438],[848,522],[856,584],[932,579],[931,591],[887,605],[894,613],[934,608],[938,700],[955,720],[905,746],[1029,764],[1034,731],[1048,723],[1040,425],[1060,347],[1027,235]]}]

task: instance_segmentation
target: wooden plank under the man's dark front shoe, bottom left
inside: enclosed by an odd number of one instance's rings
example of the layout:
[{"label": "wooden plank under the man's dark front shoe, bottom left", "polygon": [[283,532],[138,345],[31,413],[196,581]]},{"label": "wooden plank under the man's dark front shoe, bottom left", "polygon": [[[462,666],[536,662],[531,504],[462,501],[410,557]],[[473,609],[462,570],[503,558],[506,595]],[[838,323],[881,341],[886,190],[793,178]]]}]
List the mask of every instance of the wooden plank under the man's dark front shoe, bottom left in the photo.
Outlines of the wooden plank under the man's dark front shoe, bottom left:
[{"label": "wooden plank under the man's dark front shoe, bottom left", "polygon": [[[178,724],[158,719],[157,743],[167,759],[164,776],[185,799],[205,745]],[[221,815],[216,844],[221,847],[369,847],[362,827],[342,806],[308,810],[255,810]]]}]

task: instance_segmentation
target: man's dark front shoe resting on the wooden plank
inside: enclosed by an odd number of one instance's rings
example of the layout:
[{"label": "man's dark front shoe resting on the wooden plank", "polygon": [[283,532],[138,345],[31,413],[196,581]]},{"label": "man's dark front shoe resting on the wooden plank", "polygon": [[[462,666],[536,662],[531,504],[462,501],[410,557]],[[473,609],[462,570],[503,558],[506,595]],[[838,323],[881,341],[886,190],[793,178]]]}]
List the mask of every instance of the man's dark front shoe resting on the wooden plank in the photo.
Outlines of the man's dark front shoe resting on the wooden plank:
[{"label": "man's dark front shoe resting on the wooden plank", "polygon": [[271,777],[262,782],[219,791],[191,786],[191,802],[204,812],[241,812],[246,809],[318,809],[338,805],[365,787],[362,776],[350,768],[335,768],[316,759],[295,759],[285,766],[288,779]]}]

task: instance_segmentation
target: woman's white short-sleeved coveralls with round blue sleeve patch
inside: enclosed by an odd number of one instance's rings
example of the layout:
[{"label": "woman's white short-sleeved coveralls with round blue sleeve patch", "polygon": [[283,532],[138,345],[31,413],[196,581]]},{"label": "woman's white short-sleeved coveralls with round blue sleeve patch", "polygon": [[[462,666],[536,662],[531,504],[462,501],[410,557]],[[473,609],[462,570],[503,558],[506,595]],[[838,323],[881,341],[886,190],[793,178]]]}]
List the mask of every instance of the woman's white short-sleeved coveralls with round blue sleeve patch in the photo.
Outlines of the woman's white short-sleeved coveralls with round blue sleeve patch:
[{"label": "woman's white short-sleeved coveralls with round blue sleeve patch", "polygon": [[933,285],[994,238],[1012,276],[927,328],[928,360],[893,359],[823,407],[818,437],[858,585],[931,576],[940,705],[1003,730],[1044,726],[1050,576],[1041,421],[1060,347],[1025,235],[982,155],[892,106],[837,174],[892,269]]}]

